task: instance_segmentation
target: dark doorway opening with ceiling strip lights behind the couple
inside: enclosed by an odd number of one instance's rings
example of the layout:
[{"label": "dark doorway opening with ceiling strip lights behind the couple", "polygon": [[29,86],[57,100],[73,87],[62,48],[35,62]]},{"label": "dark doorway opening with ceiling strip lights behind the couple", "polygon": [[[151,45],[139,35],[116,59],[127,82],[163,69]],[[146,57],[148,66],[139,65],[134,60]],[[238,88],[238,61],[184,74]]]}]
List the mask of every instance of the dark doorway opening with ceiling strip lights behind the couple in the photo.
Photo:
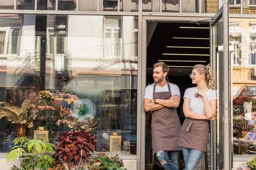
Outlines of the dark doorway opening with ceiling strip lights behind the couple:
[{"label": "dark doorway opening with ceiling strip lights behind the couple", "polygon": [[[194,65],[207,65],[210,62],[209,22],[197,25],[191,22],[148,20],[147,31],[146,85],[154,83],[152,77],[154,63],[165,62],[169,66],[167,81],[180,88],[181,101],[177,108],[177,114],[182,125],[185,120],[182,109],[184,92],[187,88],[195,87],[189,74],[191,74]],[[154,169],[158,167],[155,164],[157,160],[154,160],[152,153],[149,153],[150,143],[150,139],[146,135],[146,170],[153,170],[149,162],[154,165]],[[148,160],[149,158],[151,159]],[[179,163],[182,170],[184,167],[182,153],[180,153]],[[208,165],[208,156],[206,159],[203,156],[197,168],[209,169]]]}]

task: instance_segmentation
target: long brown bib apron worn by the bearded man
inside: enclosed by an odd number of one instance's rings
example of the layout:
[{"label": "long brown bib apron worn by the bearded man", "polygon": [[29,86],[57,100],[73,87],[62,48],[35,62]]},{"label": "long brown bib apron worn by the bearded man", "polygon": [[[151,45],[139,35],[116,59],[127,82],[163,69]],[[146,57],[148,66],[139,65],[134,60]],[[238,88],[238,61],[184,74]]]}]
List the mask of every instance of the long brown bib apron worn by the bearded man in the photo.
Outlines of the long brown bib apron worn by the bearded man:
[{"label": "long brown bib apron worn by the bearded man", "polygon": [[[153,99],[169,99],[172,96],[171,88],[167,82],[169,91],[155,92],[154,84]],[[161,108],[152,111],[152,149],[153,153],[160,150],[181,150],[177,145],[180,134],[180,119],[177,115],[176,108]]]}]

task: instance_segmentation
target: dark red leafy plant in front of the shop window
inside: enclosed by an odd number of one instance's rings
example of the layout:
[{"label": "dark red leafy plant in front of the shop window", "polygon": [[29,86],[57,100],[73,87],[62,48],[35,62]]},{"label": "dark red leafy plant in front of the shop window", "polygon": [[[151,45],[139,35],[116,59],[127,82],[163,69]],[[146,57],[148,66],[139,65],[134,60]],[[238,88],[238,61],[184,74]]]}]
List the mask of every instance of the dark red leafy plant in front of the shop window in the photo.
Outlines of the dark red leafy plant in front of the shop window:
[{"label": "dark red leafy plant in front of the shop window", "polygon": [[57,142],[55,154],[52,156],[56,163],[64,163],[69,167],[77,168],[80,159],[84,164],[89,164],[90,152],[93,153],[96,140],[92,133],[80,131],[62,133]]}]

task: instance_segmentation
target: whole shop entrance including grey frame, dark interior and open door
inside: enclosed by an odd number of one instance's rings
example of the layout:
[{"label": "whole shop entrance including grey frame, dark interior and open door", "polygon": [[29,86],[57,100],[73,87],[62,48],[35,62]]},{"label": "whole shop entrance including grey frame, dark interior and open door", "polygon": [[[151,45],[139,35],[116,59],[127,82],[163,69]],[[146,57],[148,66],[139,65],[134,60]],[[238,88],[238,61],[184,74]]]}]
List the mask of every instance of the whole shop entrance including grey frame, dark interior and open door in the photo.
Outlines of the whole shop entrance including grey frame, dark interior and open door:
[{"label": "whole shop entrance including grey frame, dark interior and open door", "polygon": [[[205,159],[209,155],[208,166],[204,164],[204,167],[198,169],[231,170],[233,168],[228,8],[228,4],[225,3],[214,17],[208,18],[211,19],[210,22],[202,21],[207,19],[202,17],[143,17],[142,79],[139,82],[143,93],[146,85],[153,83],[152,66],[155,62],[163,61],[170,66],[169,82],[179,86],[181,97],[186,88],[193,86],[189,78],[192,67],[195,64],[211,63],[212,65],[215,90],[217,90],[218,116],[214,122],[210,122],[210,151],[203,156]],[[192,20],[196,20],[197,23],[192,23]],[[143,96],[144,94],[142,98]],[[177,108],[181,124],[185,119],[182,105],[183,99]],[[143,107],[141,111],[142,136],[138,155],[140,163],[137,167],[145,170],[147,169],[146,137],[143,134],[145,134],[146,114]],[[151,163],[154,163],[154,159],[151,159]],[[182,167],[182,160],[180,163]]]}]

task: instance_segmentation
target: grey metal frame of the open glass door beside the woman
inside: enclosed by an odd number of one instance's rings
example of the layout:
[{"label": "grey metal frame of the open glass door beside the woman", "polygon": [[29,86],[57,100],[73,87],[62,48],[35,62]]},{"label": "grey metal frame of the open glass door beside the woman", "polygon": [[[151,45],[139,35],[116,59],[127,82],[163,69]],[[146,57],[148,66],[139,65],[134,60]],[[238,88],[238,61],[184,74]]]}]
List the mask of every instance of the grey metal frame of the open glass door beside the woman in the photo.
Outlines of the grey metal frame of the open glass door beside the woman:
[{"label": "grey metal frame of the open glass door beside the woman", "polygon": [[[214,25],[222,18],[222,35],[223,35],[223,89],[217,89],[218,92],[222,93],[223,90],[223,108],[220,108],[220,111],[223,111],[223,168],[224,170],[233,170],[233,133],[231,125],[233,124],[233,112],[232,112],[232,89],[231,89],[231,62],[230,62],[230,55],[229,55],[229,6],[228,3],[224,3],[223,6],[218,10],[218,12],[213,17],[213,20],[210,22],[210,56],[211,56],[211,63],[214,63],[213,54],[216,53],[216,49],[214,46]],[[221,90],[221,91],[219,91]],[[230,113],[230,114],[229,114]],[[220,118],[222,119],[222,118]],[[217,120],[218,121],[218,120]],[[216,122],[211,124],[211,129],[214,130],[216,128]],[[217,139],[215,129],[213,133],[211,133],[211,139]],[[213,166],[211,166],[211,170],[217,169],[217,141],[211,141],[211,162]]]}]

